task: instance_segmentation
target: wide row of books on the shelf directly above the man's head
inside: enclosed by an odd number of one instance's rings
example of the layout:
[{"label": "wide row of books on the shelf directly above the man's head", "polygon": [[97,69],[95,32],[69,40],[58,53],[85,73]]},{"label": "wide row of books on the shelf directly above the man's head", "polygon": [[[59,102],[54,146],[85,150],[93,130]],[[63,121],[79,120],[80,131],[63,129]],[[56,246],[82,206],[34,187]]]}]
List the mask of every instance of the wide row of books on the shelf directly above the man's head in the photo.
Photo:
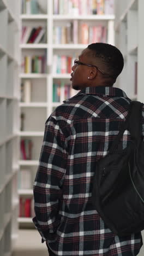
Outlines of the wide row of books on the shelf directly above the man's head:
[{"label": "wide row of books on the shelf directly above the man's head", "polygon": [[53,43],[55,44],[91,44],[106,43],[107,27],[88,26],[79,24],[77,20],[68,22],[66,26],[55,26],[53,28]]}]

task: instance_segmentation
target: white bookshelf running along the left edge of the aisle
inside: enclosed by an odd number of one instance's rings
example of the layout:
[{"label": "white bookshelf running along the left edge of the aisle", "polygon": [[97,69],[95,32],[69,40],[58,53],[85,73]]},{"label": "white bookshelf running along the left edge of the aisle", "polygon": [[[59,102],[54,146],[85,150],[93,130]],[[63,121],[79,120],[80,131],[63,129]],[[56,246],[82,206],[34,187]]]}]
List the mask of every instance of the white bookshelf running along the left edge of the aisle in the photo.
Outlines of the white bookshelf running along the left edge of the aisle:
[{"label": "white bookshelf running along the left edge of the aisle", "polygon": [[20,3],[0,0],[0,255],[11,255],[17,237],[19,172]]}]

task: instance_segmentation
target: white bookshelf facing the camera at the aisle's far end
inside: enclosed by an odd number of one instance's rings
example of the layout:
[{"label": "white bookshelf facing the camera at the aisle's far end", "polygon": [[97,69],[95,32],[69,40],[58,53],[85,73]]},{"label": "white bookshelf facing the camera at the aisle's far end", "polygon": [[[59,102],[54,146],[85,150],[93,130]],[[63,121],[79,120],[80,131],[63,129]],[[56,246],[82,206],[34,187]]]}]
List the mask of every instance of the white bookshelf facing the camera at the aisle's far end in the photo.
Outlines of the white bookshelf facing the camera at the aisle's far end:
[{"label": "white bookshelf facing the camera at the aisle's far end", "polygon": [[[38,167],[41,145],[44,136],[44,125],[46,119],[64,98],[60,97],[60,102],[53,102],[53,83],[62,81],[70,84],[70,73],[58,74],[53,73],[53,55],[72,55],[76,57],[81,51],[87,48],[88,44],[54,44],[53,43],[53,27],[64,25],[67,22],[77,20],[79,24],[86,22],[88,25],[103,25],[107,28],[107,43],[115,44],[114,39],[114,15],[56,15],[53,12],[53,0],[44,0],[47,3],[47,11],[45,14],[22,14],[22,26],[37,26],[37,24],[47,27],[47,42],[45,44],[20,44],[21,55],[31,53],[44,53],[47,55],[47,72],[46,74],[37,73],[21,73],[21,82],[26,79],[31,80],[31,101],[20,102],[21,112],[25,113],[25,127],[20,132],[20,138],[31,139],[33,149],[37,148],[37,152],[33,152],[31,160],[20,159],[21,168],[29,168],[32,172],[32,182],[34,183],[35,174]],[[76,92],[73,92],[73,94]],[[19,196],[32,196],[32,190],[19,190]],[[19,218],[20,226],[32,224],[32,218]]]}]

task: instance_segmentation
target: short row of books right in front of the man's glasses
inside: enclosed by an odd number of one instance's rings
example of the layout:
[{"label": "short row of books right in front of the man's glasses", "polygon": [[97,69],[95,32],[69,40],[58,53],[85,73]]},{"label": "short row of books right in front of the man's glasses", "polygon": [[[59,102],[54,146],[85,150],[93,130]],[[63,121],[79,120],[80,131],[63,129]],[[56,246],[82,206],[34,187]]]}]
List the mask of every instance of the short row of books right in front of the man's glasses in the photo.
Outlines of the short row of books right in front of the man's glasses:
[{"label": "short row of books right in front of the man's glasses", "polygon": [[71,73],[71,67],[74,65],[74,56],[53,55],[53,74]]}]

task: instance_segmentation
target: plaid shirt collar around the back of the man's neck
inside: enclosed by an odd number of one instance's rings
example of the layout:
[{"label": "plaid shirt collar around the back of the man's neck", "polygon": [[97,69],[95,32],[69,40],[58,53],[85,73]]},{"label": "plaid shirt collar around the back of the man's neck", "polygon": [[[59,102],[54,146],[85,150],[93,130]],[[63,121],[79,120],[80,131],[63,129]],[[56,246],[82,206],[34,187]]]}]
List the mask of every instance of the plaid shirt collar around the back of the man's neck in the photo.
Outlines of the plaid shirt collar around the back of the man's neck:
[{"label": "plaid shirt collar around the back of the man's neck", "polygon": [[77,95],[79,94],[106,95],[111,97],[127,98],[127,95],[123,90],[109,86],[86,87],[79,91]]}]

